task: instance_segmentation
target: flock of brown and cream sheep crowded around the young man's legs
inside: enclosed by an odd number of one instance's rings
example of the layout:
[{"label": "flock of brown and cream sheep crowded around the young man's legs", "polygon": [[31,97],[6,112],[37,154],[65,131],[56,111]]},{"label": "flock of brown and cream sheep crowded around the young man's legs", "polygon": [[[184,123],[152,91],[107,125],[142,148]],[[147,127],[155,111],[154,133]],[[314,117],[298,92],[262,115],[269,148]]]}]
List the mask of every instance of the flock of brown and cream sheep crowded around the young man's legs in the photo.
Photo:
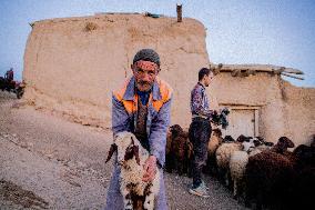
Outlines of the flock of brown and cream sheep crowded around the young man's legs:
[{"label": "flock of brown and cream sheep crowded around the young man's legs", "polygon": [[[214,129],[204,173],[222,180],[233,198],[247,207],[308,209],[315,194],[315,140],[311,146],[294,147],[287,137],[274,144],[261,137],[223,138],[221,130]],[[187,131],[179,124],[170,127],[165,170],[191,177],[192,161]]]}]

